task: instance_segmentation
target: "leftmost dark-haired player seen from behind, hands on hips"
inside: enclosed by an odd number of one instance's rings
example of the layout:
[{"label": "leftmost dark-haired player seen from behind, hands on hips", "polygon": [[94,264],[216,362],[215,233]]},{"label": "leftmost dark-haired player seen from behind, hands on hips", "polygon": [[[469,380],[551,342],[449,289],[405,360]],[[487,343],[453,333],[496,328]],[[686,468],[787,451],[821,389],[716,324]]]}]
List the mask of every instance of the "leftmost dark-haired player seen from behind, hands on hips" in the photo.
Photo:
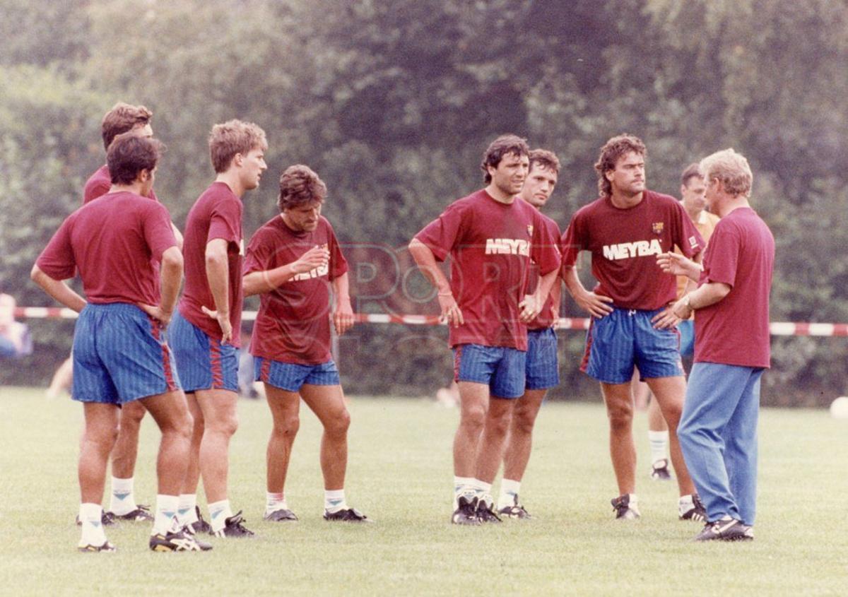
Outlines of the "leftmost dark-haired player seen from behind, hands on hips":
[{"label": "leftmost dark-haired player seen from behind, hands on hips", "polygon": [[[192,417],[165,342],[182,256],[168,210],[144,197],[153,187],[159,148],[159,142],[131,133],[118,137],[108,153],[112,191],[64,220],[32,269],[47,294],[80,313],[72,395],[84,405],[86,425],[79,467],[81,551],[114,551],[103,533],[100,501],[119,407],[132,400],[143,403],[162,432],[150,549],[211,549],[176,519]],[[161,262],[161,293],[151,258]],[[86,298],[62,282],[76,270]]]}]

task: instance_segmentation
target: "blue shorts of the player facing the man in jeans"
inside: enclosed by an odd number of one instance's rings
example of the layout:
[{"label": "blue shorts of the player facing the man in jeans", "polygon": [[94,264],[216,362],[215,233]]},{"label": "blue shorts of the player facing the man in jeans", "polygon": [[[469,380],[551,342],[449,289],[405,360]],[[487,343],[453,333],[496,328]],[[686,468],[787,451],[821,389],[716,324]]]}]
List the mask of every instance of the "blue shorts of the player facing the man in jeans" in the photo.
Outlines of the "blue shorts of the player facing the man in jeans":
[{"label": "blue shorts of the player facing the man in jeans", "polygon": [[629,382],[633,365],[642,379],[683,375],[680,334],[673,328],[657,330],[650,321],[660,312],[616,308],[593,317],[580,371],[604,383]]}]

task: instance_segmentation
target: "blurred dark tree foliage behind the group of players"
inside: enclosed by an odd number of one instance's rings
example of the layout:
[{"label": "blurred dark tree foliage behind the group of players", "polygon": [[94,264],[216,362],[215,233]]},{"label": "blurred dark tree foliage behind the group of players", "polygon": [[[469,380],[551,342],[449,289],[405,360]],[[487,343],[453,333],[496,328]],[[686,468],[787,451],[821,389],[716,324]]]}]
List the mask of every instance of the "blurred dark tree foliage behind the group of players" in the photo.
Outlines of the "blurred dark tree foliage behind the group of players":
[{"label": "blurred dark tree foliage behind the group of players", "polygon": [[[178,225],[211,179],[215,122],[253,120],[268,132],[271,176],[246,196],[248,232],[275,215],[276,173],[315,168],[330,188],[326,215],[355,258],[362,310],[433,312],[405,244],[481,185],[493,137],[516,132],[555,150],[562,170],[549,213],[565,226],[595,197],[600,145],[629,131],[648,145],[650,187],[671,194],[706,153],[745,153],[753,204],[778,241],[773,320],[848,317],[848,233],[834,226],[848,199],[845,0],[0,7],[0,284],[21,302],[47,304],[26,273],[102,162],[100,117],[123,100],[153,109],[169,147],[158,194]],[[369,259],[392,281],[380,292]],[[382,297],[393,286],[417,287],[418,298]],[[583,315],[569,301],[564,310]],[[360,326],[341,343],[345,383],[429,392],[449,375],[443,340],[444,331]],[[584,383],[579,345],[563,335],[563,396]],[[844,340],[778,338],[773,349],[767,397],[815,403],[843,393]]]}]

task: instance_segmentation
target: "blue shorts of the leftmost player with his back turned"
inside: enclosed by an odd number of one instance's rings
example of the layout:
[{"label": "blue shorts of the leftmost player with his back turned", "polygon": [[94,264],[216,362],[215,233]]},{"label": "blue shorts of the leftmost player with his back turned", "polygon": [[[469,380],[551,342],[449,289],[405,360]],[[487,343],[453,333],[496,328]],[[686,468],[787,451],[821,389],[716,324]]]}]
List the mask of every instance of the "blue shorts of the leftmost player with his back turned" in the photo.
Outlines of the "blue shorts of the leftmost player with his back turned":
[{"label": "blue shorts of the leftmost player with his back turned", "polygon": [[165,328],[134,304],[86,304],[71,355],[80,402],[122,405],[180,389]]}]

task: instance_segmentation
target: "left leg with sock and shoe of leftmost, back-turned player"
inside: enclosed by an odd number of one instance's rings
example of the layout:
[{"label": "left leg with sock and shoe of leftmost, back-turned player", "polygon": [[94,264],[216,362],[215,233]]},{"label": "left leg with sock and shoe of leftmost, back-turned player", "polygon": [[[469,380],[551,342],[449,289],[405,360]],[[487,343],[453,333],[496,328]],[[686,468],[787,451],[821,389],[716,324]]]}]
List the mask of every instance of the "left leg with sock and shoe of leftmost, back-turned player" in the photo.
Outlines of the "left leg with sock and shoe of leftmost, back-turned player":
[{"label": "left leg with sock and shoe of leftmost, back-turned player", "polygon": [[118,437],[118,407],[113,404],[83,403],[85,428],[80,440],[80,461],[77,474],[80,479],[81,550],[114,551],[103,533],[103,488],[109,452]]}]

